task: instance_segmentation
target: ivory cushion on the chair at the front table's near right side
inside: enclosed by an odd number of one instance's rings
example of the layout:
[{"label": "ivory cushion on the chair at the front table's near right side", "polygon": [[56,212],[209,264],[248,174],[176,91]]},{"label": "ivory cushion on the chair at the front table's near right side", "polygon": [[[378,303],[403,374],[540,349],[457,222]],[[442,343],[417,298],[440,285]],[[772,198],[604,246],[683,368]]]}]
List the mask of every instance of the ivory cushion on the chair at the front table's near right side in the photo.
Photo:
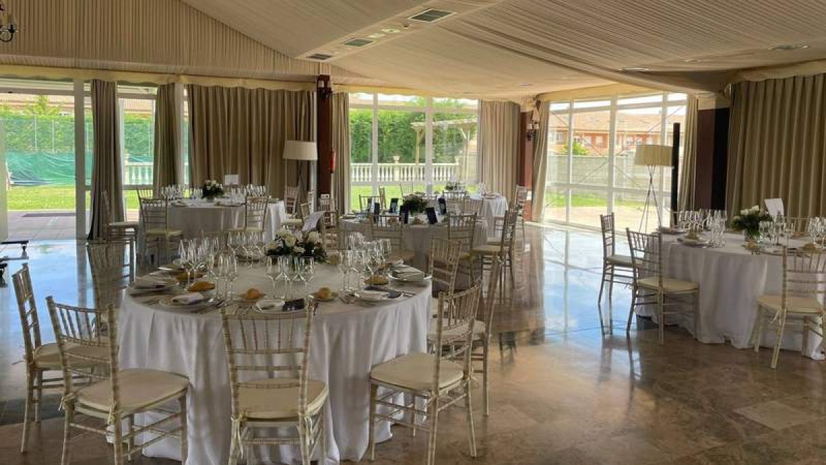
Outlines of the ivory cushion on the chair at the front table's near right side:
[{"label": "ivory cushion on the chair at the front table's near right side", "polygon": [[[430,353],[409,353],[384,362],[370,372],[376,381],[399,386],[413,391],[430,391],[433,386],[435,355]],[[439,389],[462,380],[462,367],[449,360],[440,362]]]}]

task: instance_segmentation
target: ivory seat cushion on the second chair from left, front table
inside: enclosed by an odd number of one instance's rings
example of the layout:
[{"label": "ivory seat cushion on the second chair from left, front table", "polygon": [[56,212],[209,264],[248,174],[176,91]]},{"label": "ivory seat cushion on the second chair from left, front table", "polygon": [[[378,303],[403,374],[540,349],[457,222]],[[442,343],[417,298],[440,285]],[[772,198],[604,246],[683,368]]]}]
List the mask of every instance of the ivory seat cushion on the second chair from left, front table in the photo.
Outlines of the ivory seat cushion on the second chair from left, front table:
[{"label": "ivory seat cushion on the second chair from left, front table", "polygon": [[[187,390],[189,380],[185,376],[159,370],[131,368],[118,372],[121,394],[121,410],[135,412],[145,410],[161,401],[172,399]],[[77,393],[83,405],[96,410],[112,409],[112,385],[109,380],[97,381]]]}]

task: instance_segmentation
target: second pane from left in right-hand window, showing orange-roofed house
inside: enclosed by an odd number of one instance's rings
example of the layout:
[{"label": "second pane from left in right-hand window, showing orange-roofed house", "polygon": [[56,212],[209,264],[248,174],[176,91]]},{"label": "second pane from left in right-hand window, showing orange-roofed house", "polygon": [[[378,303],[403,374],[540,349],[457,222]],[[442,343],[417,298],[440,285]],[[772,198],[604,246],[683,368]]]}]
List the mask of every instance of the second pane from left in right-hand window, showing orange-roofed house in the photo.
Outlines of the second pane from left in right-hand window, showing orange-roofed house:
[{"label": "second pane from left in right-hand window, showing orange-roofed house", "polygon": [[608,135],[610,111],[574,113],[572,175],[573,184],[608,185]]}]

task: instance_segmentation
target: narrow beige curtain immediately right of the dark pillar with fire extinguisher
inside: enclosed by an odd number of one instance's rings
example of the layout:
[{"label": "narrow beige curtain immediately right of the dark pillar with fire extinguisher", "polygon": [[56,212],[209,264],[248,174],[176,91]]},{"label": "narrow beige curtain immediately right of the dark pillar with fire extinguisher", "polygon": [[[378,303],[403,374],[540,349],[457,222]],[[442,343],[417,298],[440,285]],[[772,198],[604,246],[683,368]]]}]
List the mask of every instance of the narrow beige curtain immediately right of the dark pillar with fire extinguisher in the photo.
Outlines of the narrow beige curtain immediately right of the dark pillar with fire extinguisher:
[{"label": "narrow beige curtain immediately right of the dark pillar with fire extinguisher", "polygon": [[333,175],[333,198],[339,213],[349,212],[350,205],[350,103],[349,93],[333,93],[333,150],[336,165]]}]

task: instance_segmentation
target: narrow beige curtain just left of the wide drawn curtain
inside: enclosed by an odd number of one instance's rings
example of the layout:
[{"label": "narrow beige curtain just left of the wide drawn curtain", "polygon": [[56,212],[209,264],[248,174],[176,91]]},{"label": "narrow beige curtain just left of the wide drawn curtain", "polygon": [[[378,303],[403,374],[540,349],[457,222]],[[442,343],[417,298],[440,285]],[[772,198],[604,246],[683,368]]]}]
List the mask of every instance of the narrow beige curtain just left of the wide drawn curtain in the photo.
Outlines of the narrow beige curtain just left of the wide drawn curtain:
[{"label": "narrow beige curtain just left of the wide drawn curtain", "polygon": [[154,194],[160,188],[178,184],[178,160],[180,141],[178,140],[178,112],[175,108],[175,84],[158,86],[155,101],[155,141],[153,162]]}]

